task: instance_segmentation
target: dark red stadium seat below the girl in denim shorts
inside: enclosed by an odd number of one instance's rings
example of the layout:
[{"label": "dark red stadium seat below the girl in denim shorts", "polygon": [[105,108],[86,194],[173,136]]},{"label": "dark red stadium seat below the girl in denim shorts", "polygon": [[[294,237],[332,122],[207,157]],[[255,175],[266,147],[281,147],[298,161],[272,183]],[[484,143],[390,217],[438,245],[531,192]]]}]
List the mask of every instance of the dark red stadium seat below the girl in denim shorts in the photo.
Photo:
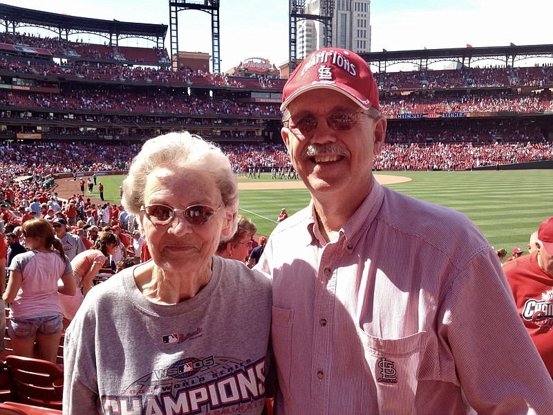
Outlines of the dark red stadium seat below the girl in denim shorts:
[{"label": "dark red stadium seat below the girl in denim shorts", "polygon": [[14,355],[6,357],[5,365],[17,402],[62,410],[63,369],[47,360]]}]

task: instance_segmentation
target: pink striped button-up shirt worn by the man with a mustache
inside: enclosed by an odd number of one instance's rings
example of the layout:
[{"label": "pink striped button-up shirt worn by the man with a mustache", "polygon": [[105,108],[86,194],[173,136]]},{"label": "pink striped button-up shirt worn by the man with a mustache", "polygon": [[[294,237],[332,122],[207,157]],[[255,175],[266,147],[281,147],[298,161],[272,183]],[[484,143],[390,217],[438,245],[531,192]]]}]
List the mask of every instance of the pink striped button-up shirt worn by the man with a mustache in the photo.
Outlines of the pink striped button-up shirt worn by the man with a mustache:
[{"label": "pink striped button-up shirt worn by the man with a mustache", "polygon": [[378,185],[325,243],[312,205],[272,233],[275,414],[553,414],[496,253],[453,210]]}]

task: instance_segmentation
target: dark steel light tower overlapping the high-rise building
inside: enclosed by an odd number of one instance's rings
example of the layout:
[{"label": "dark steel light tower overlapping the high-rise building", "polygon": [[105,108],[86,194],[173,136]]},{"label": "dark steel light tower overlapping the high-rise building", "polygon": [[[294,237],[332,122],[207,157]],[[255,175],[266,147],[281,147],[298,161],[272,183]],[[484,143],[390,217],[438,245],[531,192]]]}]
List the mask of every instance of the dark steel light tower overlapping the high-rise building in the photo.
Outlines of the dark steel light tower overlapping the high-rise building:
[{"label": "dark steel light tower overlapping the high-rise building", "polygon": [[317,20],[324,24],[324,46],[332,46],[332,16],[334,0],[320,0],[319,14],[306,12],[306,0],[290,0],[290,50],[288,65],[290,73],[297,66],[297,24],[300,20]]}]

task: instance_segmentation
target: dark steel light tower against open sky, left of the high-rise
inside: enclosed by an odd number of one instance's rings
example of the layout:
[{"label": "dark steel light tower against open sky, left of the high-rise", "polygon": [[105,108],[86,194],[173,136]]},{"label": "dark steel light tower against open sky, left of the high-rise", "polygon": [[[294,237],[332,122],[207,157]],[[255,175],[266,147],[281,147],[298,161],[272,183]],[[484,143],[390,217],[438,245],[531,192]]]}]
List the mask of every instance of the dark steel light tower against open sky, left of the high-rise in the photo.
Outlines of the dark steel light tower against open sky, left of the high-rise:
[{"label": "dark steel light tower against open sky, left of the high-rise", "polygon": [[171,39],[172,67],[178,68],[178,12],[181,10],[201,10],[212,15],[213,72],[221,73],[221,57],[219,55],[219,0],[169,0],[169,37]]}]

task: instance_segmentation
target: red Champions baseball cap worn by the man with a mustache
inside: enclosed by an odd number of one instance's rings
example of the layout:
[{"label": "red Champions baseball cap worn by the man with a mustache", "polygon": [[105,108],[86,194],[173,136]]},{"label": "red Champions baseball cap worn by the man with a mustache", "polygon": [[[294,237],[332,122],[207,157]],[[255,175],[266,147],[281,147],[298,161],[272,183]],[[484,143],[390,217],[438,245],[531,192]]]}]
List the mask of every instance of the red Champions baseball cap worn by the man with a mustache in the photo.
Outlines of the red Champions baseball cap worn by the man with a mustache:
[{"label": "red Champions baseball cap worn by the man with a mustache", "polygon": [[323,48],[303,59],[284,85],[281,111],[294,98],[312,89],[332,89],[363,109],[375,107],[380,111],[378,86],[371,68],[350,50]]}]

